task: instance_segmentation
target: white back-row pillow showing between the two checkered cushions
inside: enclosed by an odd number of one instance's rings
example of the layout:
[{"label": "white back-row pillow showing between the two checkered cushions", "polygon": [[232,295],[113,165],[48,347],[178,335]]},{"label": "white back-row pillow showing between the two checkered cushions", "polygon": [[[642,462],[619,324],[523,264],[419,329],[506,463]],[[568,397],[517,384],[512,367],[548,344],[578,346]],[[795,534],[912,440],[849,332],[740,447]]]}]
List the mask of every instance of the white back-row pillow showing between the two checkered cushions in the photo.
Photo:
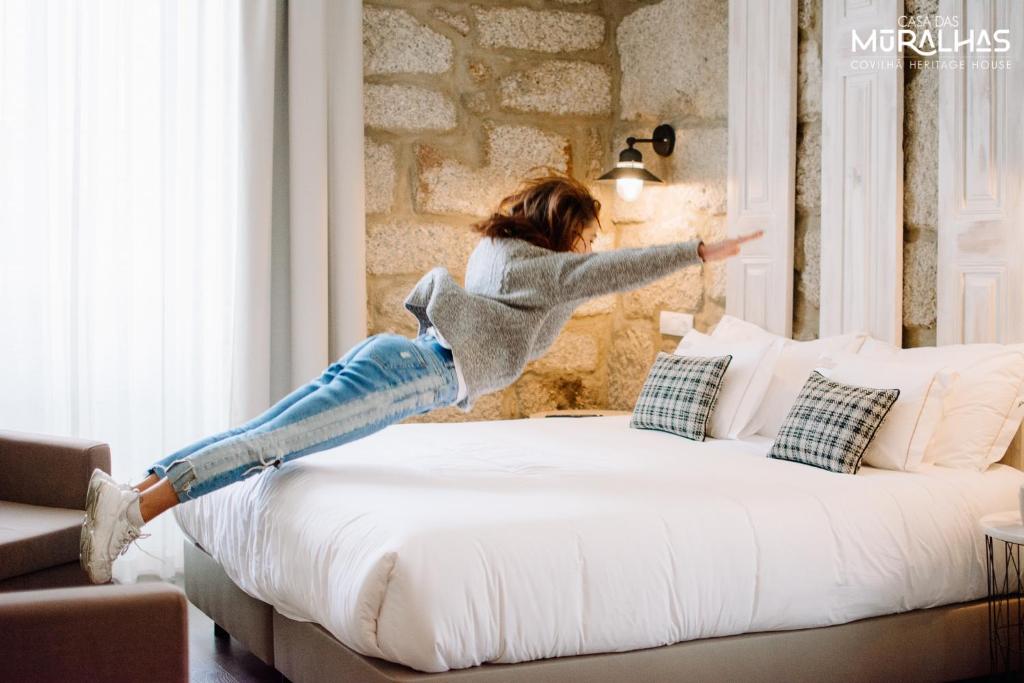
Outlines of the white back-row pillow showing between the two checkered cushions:
[{"label": "white back-row pillow showing between the two checkered cushions", "polygon": [[839,351],[856,352],[864,342],[864,337],[862,334],[851,334],[799,342],[772,334],[732,315],[723,315],[712,333],[713,339],[721,341],[781,340],[782,348],[772,369],[768,389],[749,427],[751,433],[772,438],[778,435],[779,427],[785,421],[785,416],[811,371],[821,365],[822,355]]}]

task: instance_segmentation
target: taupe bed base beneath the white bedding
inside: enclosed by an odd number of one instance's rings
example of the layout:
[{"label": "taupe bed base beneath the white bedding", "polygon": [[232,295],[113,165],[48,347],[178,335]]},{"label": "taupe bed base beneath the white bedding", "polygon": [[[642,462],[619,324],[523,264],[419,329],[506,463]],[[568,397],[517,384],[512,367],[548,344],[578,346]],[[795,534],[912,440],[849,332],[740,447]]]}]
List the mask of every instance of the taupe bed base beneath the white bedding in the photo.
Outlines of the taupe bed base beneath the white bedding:
[{"label": "taupe bed base beneath the white bedding", "polygon": [[361,655],[319,625],[282,616],[239,589],[189,542],[185,592],[214,623],[296,683],[950,681],[990,673],[984,600],[818,629],[425,674]]}]

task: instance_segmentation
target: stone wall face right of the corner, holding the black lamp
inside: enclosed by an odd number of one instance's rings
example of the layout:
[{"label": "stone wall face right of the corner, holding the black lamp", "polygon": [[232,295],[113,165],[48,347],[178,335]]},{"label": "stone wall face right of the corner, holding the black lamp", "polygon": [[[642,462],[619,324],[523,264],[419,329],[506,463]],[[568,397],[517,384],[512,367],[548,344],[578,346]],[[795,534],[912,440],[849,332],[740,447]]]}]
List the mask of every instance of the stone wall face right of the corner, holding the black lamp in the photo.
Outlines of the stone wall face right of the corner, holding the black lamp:
[{"label": "stone wall face right of the corner, holding the black lamp", "polygon": [[[663,0],[616,6],[615,47],[621,87],[614,152],[629,135],[650,137],[654,126],[676,129],[667,159],[641,145],[647,167],[664,179],[628,204],[607,191],[609,227],[617,247],[638,247],[725,236],[728,118],[728,3]],[[608,158],[613,159],[612,150]],[[650,287],[620,295],[608,358],[609,407],[630,410],[658,350],[677,337],[658,333],[660,310],[694,315],[698,330],[725,307],[725,267],[690,267]]]}]

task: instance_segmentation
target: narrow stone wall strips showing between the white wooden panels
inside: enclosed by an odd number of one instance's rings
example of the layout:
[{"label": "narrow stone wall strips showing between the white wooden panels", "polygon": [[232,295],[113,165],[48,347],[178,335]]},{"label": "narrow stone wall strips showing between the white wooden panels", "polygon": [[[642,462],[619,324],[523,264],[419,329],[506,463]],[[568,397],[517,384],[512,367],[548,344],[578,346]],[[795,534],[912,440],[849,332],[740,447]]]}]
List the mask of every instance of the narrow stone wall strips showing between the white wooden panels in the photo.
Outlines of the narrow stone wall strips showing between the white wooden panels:
[{"label": "narrow stone wall strips showing between the white wooden panels", "polygon": [[[906,14],[935,14],[938,0],[906,0]],[[797,240],[793,336],[818,334],[821,188],[821,0],[799,5]],[[935,344],[938,246],[938,71],[907,60],[903,71],[903,345]]]}]

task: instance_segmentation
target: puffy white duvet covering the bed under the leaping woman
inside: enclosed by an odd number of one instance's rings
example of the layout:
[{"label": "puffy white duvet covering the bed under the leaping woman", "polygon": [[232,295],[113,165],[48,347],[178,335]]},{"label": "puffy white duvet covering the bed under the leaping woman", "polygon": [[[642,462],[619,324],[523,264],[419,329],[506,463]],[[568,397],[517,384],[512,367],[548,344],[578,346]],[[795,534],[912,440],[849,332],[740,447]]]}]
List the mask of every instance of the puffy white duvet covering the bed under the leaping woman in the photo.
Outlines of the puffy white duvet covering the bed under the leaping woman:
[{"label": "puffy white duvet covering the bed under the leaping woman", "polygon": [[841,624],[985,594],[1024,473],[765,458],[628,417],[389,427],[177,509],[250,595],[427,672]]}]

